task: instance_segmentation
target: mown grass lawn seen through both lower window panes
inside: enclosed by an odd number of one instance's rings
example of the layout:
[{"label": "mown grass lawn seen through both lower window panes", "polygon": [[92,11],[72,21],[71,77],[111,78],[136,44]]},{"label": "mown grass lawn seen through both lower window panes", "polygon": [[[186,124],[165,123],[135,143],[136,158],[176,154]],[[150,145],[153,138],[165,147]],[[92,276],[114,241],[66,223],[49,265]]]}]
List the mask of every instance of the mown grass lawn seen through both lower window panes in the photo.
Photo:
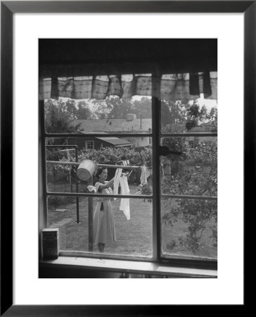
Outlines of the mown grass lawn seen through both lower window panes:
[{"label": "mown grass lawn seen through both lower window panes", "polygon": [[[129,186],[130,193],[135,194],[136,186]],[[48,221],[49,227],[59,228],[60,230],[60,249],[87,251],[88,252],[88,199],[79,198],[79,220],[77,223],[76,198],[72,198],[68,204],[59,205],[58,209],[66,211],[55,211],[49,207]],[[152,204],[143,199],[130,199],[130,220],[127,220],[124,213],[119,210],[120,199],[112,201],[115,230],[117,241],[105,246],[106,254],[118,254],[127,256],[152,256]],[[175,204],[175,201],[173,202]],[[96,201],[94,201],[94,206]],[[168,211],[169,207],[162,204],[162,216]],[[217,248],[212,247],[210,237],[210,225],[208,224],[201,242],[202,247],[197,256],[217,257]],[[174,227],[162,226],[162,252],[164,254],[193,255],[185,247],[177,247],[172,251],[167,249],[167,243],[179,236],[186,235],[187,225],[181,219]],[[95,247],[95,252],[97,248]]]}]

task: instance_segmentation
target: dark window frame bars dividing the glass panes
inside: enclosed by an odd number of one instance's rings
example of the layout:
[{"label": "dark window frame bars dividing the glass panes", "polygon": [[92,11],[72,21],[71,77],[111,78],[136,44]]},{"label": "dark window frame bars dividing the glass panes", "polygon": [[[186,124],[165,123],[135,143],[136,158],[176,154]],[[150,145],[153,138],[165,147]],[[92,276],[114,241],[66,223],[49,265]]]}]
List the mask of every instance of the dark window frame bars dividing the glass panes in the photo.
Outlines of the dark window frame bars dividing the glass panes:
[{"label": "dark window frame bars dividing the glass panes", "polygon": [[[139,61],[141,61],[141,58],[138,60],[136,59],[136,63],[138,63]],[[88,62],[88,61],[87,61]],[[122,63],[125,63],[125,61],[122,61]],[[104,64],[104,61],[101,61],[101,63]],[[148,67],[148,66],[143,66],[143,67]],[[183,67],[183,66],[182,66]],[[190,73],[192,71],[197,71],[195,68],[195,66],[192,67],[193,70],[191,68],[186,68],[184,70],[184,68],[182,68],[183,70],[181,71],[174,71],[174,73]],[[152,113],[152,130],[150,131],[150,133],[129,133],[129,134],[118,134],[118,133],[108,133],[109,137],[145,137],[146,135],[148,137],[151,137],[152,142],[151,145],[153,147],[153,156],[152,156],[152,169],[154,170],[153,173],[153,194],[152,194],[152,198],[153,199],[153,257],[152,259],[150,259],[149,261],[153,261],[153,262],[157,262],[157,263],[168,263],[168,265],[179,265],[179,266],[190,266],[191,268],[201,268],[201,267],[206,267],[206,268],[214,268],[217,269],[217,259],[200,259],[198,260],[198,258],[194,258],[194,257],[189,257],[189,256],[182,256],[179,257],[179,259],[177,259],[175,256],[172,256],[171,258],[167,258],[163,255],[161,255],[161,218],[158,215],[158,211],[160,210],[160,206],[161,206],[161,193],[160,193],[160,188],[158,187],[158,183],[160,180],[160,169],[158,168],[160,166],[160,139],[162,137],[193,137],[198,135],[197,132],[189,132],[189,133],[162,133],[160,130],[160,111],[161,111],[161,100],[158,98],[160,96],[160,78],[162,76],[162,70],[161,67],[158,65],[158,61],[155,61],[153,63],[151,63],[151,70],[148,69],[148,71],[146,71],[143,68],[143,72],[142,73],[151,73],[151,77],[152,77],[152,92],[154,92],[154,96],[151,97],[151,113]],[[167,70],[166,70],[167,71]],[[216,70],[215,70],[216,71]],[[94,74],[97,75],[97,74]],[[56,76],[56,75],[55,75]],[[158,96],[158,97],[155,97]],[[42,106],[42,108],[44,108],[44,106]],[[39,113],[41,113],[41,111],[39,111]],[[42,116],[44,117],[44,113],[42,114]],[[70,137],[69,133],[63,133],[63,134],[49,134],[46,133],[44,130],[41,131],[41,135],[42,137],[45,139],[45,137]],[[84,138],[84,135],[75,135],[76,137],[82,137]],[[91,137],[94,135],[90,135]],[[200,137],[202,136],[217,136],[217,133],[213,133],[213,132],[206,132],[206,133],[200,133]],[[74,137],[74,134],[72,134],[72,137]],[[101,135],[101,134],[97,134],[96,137],[105,137],[105,134]],[[44,169],[46,169],[46,166],[44,164]],[[45,186],[44,186],[45,187]],[[56,193],[49,193],[46,192],[45,188],[44,188],[44,194],[46,195],[56,195]],[[60,193],[59,193],[60,195]],[[91,194],[79,194],[79,196],[84,196],[87,197]],[[62,194],[62,196],[65,196],[65,193]],[[72,196],[77,196],[77,194],[72,194]],[[185,198],[188,199],[187,195],[170,195],[170,197],[176,197],[176,198]],[[94,194],[94,197],[96,197],[96,195]],[[113,196],[115,197],[115,196]],[[125,197],[125,196],[121,196],[118,195],[119,198],[121,197]],[[139,196],[141,198],[144,198],[143,196]],[[136,197],[136,198],[139,198]],[[135,198],[135,197],[131,197],[131,195],[128,198]],[[151,198],[149,196],[147,196],[146,198]],[[205,197],[192,197],[193,199],[205,199]],[[208,199],[209,197],[207,197]],[[216,197],[217,199],[217,197]],[[46,206],[46,205],[45,205]],[[107,257],[107,255],[103,254],[101,255],[101,258],[105,258]],[[110,256],[110,258],[113,258],[113,256]],[[122,259],[124,258],[124,256],[122,256]],[[144,258],[143,258],[144,259]],[[136,259],[135,257],[132,257],[130,259],[131,261],[141,261],[141,258]]]}]

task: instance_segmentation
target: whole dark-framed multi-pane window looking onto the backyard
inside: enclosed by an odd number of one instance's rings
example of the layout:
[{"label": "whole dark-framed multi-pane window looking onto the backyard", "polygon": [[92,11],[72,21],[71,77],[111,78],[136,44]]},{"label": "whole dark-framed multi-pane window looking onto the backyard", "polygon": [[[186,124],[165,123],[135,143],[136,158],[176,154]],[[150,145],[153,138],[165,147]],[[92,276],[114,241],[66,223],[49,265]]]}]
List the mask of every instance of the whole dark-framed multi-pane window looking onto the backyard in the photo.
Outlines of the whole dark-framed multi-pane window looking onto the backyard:
[{"label": "whole dark-framed multi-pane window looking onto the backyard", "polygon": [[[148,51],[152,42],[142,39],[113,40],[113,45],[80,39],[72,46],[75,53],[70,51],[70,60],[63,56],[51,68],[47,58],[54,55],[57,43],[61,47],[65,41],[39,41],[45,166],[40,230],[59,228],[62,255],[215,268],[217,131],[206,127],[217,126],[217,112],[211,110],[210,115],[200,100],[217,100],[217,41],[153,40],[158,49]],[[124,47],[132,47],[130,41],[138,45],[127,56]],[[181,52],[188,46],[190,53],[184,56]],[[79,54],[86,56],[80,66],[72,61]],[[97,141],[84,141],[88,135]],[[77,144],[70,159],[49,147],[64,146],[67,138]],[[103,146],[103,139],[108,146]],[[134,147],[125,147],[128,140]],[[79,147],[83,142],[87,153]],[[129,179],[129,191],[122,189],[121,196],[119,191],[97,192],[96,168],[108,168],[110,179],[115,178],[115,166]],[[89,177],[79,178],[85,170]],[[99,216],[110,208],[99,204],[109,194],[119,240],[105,244],[102,253],[102,246],[97,249],[94,242],[97,234],[108,234],[100,232],[101,225],[95,226],[93,218],[96,208]],[[127,202],[129,214],[121,209]]]}]

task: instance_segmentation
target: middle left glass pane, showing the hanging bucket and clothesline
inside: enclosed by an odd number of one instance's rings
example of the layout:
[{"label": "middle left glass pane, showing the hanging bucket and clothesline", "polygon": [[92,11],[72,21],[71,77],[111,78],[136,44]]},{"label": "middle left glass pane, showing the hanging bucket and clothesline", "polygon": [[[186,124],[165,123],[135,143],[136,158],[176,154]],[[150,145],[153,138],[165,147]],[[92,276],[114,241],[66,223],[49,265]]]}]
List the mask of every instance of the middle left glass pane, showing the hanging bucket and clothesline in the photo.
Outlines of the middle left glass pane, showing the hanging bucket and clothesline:
[{"label": "middle left glass pane, showing the hanging bucket and clothesline", "polygon": [[[97,168],[107,168],[111,180],[117,173],[115,166],[124,166],[129,194],[152,194],[151,137],[110,138],[103,142],[93,137],[94,149],[85,148],[87,138],[46,139],[46,185],[49,192],[90,192],[98,181]],[[132,146],[121,146],[129,142]],[[60,144],[69,144],[60,145]],[[76,143],[76,144],[73,144]],[[82,144],[81,147],[79,144]],[[88,177],[87,177],[88,176]],[[120,190],[115,194],[124,194]]]}]

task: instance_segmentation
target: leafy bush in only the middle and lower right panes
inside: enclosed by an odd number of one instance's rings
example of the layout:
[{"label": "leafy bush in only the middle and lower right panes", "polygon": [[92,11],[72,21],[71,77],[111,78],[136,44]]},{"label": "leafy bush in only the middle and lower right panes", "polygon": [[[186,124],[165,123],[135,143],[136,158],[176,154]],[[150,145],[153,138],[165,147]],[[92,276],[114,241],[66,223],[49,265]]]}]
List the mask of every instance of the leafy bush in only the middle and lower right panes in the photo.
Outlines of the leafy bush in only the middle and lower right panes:
[{"label": "leafy bush in only the middle and lower right panes", "polygon": [[[217,145],[213,146],[212,142],[205,143],[204,146],[198,144],[196,149],[188,147],[187,155],[198,156],[200,159],[205,156],[207,160],[209,154],[212,154],[212,159],[210,161],[208,159],[210,166],[208,172],[197,173],[189,170],[185,165],[174,177],[165,178],[162,184],[162,192],[165,194],[205,196],[205,199],[175,199],[176,205],[172,205],[173,199],[165,201],[165,204],[169,204],[171,208],[162,217],[163,225],[174,228],[180,220],[188,225],[186,235],[174,237],[167,243],[167,249],[173,250],[184,246],[196,254],[200,247],[203,247],[200,240],[207,229],[207,223],[208,230],[212,231],[210,236],[212,246],[217,247],[217,201],[207,199],[208,196],[217,196]],[[205,149],[209,151],[205,152]]]}]

